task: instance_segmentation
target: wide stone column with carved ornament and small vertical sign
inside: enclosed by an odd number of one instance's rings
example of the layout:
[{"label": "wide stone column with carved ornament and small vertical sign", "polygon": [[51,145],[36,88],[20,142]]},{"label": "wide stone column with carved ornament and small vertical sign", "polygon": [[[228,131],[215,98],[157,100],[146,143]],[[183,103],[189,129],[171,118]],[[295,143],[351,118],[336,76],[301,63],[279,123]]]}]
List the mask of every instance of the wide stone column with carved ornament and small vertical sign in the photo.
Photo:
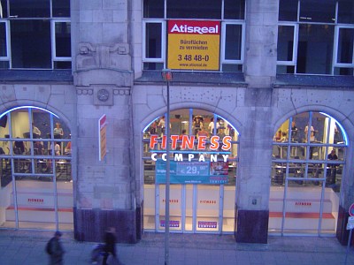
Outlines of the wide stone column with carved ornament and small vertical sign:
[{"label": "wide stone column with carved ornament and small vertical sign", "polygon": [[[101,241],[112,226],[119,242],[133,243],[137,226],[127,0],[76,0],[72,7],[78,98],[75,239]],[[107,155],[99,161],[98,120],[103,115],[108,123]]]}]

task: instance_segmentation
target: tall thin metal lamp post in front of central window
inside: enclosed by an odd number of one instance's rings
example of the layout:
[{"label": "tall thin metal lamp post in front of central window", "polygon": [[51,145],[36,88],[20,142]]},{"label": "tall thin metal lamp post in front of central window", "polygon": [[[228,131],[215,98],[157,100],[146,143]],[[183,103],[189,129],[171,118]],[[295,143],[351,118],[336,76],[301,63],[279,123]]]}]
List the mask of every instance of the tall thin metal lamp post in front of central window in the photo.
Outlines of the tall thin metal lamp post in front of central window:
[{"label": "tall thin metal lamp post in front of central window", "polygon": [[167,117],[166,117],[166,170],[165,170],[165,265],[169,264],[169,234],[170,234],[170,81],[172,71],[164,69],[162,78],[167,84]]}]

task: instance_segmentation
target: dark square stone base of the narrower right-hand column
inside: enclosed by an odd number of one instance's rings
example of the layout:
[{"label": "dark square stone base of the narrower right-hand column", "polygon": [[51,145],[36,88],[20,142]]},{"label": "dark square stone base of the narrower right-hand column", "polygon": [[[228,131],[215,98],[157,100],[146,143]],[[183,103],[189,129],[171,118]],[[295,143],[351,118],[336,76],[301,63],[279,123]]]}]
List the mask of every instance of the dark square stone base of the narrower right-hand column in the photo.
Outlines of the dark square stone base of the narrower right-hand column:
[{"label": "dark square stone base of the narrower right-hand column", "polygon": [[269,211],[238,210],[236,242],[266,244]]}]

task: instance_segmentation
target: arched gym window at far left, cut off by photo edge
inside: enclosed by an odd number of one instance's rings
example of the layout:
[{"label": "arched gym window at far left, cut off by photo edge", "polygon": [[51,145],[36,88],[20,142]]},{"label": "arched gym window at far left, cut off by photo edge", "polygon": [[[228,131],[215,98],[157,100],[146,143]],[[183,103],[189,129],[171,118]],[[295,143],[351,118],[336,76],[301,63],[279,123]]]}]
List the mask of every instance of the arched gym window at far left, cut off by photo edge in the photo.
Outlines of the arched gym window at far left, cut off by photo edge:
[{"label": "arched gym window at far left, cut off by photo edge", "polygon": [[71,133],[48,110],[0,116],[0,226],[73,230]]}]

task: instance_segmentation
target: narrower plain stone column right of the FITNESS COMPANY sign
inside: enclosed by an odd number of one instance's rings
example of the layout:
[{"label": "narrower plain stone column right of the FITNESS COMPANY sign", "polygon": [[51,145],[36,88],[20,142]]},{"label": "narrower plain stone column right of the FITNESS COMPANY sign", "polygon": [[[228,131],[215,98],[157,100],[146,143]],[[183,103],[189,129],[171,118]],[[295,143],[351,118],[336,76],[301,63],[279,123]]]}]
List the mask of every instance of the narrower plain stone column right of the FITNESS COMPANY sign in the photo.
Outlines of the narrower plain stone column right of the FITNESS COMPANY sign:
[{"label": "narrower plain stone column right of the FITNESS COMPANY sign", "polygon": [[278,9],[278,0],[247,1],[244,76],[249,87],[244,105],[248,113],[242,128],[237,171],[237,242],[267,242],[272,129],[264,121],[272,115]]}]

